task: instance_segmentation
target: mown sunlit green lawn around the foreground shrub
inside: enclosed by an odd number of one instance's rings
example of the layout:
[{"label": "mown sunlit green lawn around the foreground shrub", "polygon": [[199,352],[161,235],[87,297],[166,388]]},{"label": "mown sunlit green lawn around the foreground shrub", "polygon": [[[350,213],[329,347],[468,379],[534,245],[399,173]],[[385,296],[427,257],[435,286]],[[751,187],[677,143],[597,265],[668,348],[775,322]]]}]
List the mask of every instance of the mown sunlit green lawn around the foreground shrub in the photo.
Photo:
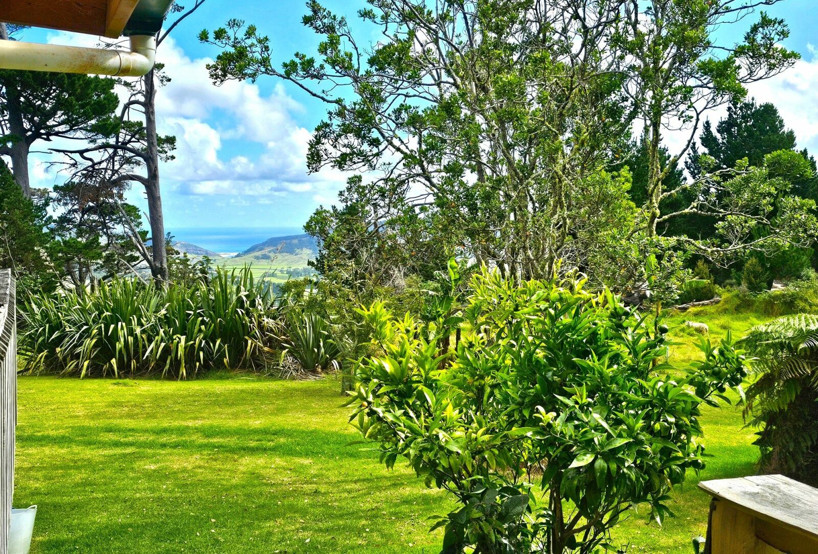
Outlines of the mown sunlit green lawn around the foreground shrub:
[{"label": "mown sunlit green lawn around the foreground shrub", "polygon": [[[438,552],[444,494],[347,446],[338,383],[20,378],[16,505],[39,505],[32,552]],[[703,478],[753,471],[735,409],[705,413]],[[692,552],[695,478],[663,529],[631,517],[629,552]]]}]

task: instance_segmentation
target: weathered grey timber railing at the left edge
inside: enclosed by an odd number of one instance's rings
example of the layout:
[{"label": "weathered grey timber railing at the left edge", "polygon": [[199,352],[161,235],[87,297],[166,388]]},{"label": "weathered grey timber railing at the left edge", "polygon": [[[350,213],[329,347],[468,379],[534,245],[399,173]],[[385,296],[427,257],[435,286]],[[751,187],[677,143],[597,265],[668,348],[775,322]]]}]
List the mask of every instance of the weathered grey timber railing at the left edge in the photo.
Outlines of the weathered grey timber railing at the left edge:
[{"label": "weathered grey timber railing at the left edge", "polygon": [[0,554],[8,552],[14,493],[14,429],[17,423],[17,334],[15,285],[0,270]]}]

